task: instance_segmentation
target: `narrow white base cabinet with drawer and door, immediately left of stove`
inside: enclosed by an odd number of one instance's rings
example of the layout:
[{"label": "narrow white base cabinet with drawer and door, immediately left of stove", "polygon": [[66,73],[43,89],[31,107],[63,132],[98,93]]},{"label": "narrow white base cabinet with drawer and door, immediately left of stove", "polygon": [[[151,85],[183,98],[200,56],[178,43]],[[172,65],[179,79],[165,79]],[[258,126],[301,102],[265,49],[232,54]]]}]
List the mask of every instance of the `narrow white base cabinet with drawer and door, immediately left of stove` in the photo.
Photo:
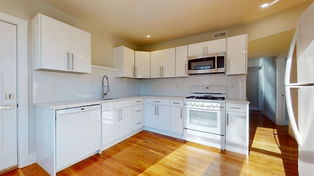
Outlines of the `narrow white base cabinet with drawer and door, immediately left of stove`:
[{"label": "narrow white base cabinet with drawer and door, immediately left of stove", "polygon": [[171,100],[170,132],[183,134],[183,100]]}]

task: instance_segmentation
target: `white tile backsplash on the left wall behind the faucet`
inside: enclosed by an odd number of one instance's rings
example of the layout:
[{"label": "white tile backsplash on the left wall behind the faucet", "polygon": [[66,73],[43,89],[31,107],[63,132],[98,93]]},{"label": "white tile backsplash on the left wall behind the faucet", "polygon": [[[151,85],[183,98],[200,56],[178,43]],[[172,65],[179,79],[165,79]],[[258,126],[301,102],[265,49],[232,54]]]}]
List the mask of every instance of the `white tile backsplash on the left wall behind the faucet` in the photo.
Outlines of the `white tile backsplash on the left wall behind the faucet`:
[{"label": "white tile backsplash on the left wall behind the faucet", "polygon": [[[114,78],[113,71],[93,68],[91,74],[67,74],[32,71],[33,103],[101,98],[103,76],[108,77],[110,92],[106,97],[140,94],[140,80]],[[52,90],[52,83],[57,90]],[[105,81],[106,85],[106,81]]]}]

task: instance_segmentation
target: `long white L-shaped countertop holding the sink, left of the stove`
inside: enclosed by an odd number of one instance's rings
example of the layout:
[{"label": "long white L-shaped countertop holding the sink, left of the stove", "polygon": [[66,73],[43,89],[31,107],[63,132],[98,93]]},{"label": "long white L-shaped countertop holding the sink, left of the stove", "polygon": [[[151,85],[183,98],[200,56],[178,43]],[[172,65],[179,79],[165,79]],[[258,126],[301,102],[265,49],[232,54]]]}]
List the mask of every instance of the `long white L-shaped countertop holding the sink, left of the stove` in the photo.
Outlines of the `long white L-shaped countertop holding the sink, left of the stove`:
[{"label": "long white L-shaped countertop holding the sink, left of the stove", "polygon": [[160,95],[132,95],[132,96],[121,96],[121,97],[106,97],[106,99],[114,98],[110,100],[101,100],[100,98],[93,99],[81,99],[81,100],[69,100],[69,101],[57,101],[57,102],[44,102],[44,103],[33,103],[33,106],[45,108],[45,109],[66,109],[75,108],[90,105],[99,105],[105,102],[121,101],[135,98],[162,98],[162,99],[175,99],[183,100],[183,96],[160,96]]}]

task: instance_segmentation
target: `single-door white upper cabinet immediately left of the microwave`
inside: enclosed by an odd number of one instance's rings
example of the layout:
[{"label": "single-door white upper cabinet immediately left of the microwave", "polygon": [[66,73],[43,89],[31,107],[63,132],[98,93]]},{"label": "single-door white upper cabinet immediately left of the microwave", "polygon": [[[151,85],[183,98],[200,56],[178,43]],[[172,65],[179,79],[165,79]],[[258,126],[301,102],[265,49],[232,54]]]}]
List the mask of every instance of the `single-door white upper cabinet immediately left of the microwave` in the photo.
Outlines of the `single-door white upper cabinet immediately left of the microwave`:
[{"label": "single-door white upper cabinet immediately left of the microwave", "polygon": [[187,76],[187,45],[176,47],[176,77]]}]

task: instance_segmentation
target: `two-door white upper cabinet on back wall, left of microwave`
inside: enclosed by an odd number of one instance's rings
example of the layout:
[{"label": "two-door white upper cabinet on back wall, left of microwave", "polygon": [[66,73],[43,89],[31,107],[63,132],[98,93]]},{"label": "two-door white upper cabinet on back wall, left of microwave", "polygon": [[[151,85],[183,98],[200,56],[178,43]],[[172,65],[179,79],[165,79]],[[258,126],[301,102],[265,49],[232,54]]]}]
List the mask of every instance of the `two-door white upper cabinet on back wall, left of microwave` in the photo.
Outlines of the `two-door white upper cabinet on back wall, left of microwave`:
[{"label": "two-door white upper cabinet on back wall, left of microwave", "polygon": [[176,48],[151,52],[151,78],[176,76]]}]

